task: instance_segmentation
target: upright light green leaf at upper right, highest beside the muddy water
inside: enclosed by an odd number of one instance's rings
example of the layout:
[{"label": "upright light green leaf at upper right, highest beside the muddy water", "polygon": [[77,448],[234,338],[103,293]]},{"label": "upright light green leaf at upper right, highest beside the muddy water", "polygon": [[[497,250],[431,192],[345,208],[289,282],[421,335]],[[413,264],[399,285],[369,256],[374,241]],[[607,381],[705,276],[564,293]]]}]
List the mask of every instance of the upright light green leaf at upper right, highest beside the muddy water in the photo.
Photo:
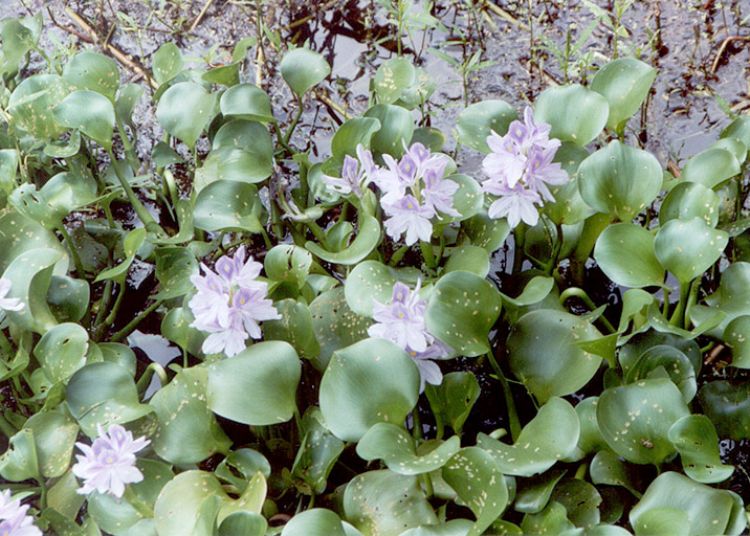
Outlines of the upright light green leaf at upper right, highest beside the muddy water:
[{"label": "upright light green leaf at upper right, highest beside the muddy water", "polygon": [[656,69],[635,58],[619,58],[602,66],[591,81],[591,89],[609,103],[607,127],[620,131],[646,100]]}]

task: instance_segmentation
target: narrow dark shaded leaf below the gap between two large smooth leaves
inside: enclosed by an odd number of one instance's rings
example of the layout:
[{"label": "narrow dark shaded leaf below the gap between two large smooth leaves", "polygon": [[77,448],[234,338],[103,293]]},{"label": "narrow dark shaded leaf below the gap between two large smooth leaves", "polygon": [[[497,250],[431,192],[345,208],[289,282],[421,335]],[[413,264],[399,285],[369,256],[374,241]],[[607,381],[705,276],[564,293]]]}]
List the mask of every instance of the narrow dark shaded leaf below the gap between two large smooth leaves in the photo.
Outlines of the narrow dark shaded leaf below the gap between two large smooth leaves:
[{"label": "narrow dark shaded leaf below the gap between two large smooth leaves", "polygon": [[304,481],[310,494],[322,494],[339,456],[344,451],[344,442],[334,436],[323,422],[317,407],[311,407],[302,418],[303,437],[292,466],[292,476]]}]

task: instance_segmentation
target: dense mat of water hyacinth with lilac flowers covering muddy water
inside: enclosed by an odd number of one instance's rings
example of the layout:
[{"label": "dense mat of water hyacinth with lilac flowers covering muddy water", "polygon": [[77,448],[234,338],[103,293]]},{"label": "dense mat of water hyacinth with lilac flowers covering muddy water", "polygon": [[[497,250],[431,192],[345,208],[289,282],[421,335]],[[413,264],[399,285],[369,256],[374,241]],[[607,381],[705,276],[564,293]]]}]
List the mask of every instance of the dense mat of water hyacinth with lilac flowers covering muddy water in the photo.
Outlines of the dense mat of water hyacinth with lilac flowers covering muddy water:
[{"label": "dense mat of water hyacinth with lilac flowers covering muddy water", "polygon": [[378,6],[359,108],[265,26],[142,68],[0,21],[0,534],[746,530],[750,117],[657,157],[617,54],[446,110],[436,11]]}]

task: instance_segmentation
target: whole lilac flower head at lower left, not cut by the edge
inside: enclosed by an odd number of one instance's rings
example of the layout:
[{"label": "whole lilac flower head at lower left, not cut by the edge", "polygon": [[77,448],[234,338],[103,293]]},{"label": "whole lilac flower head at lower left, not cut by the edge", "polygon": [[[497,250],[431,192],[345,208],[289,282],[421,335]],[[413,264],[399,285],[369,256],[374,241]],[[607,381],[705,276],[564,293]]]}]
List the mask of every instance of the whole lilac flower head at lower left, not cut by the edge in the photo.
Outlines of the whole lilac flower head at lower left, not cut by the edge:
[{"label": "whole lilac flower head at lower left, not cut by the edge", "polygon": [[149,444],[144,437],[133,439],[133,434],[119,424],[110,425],[105,433],[99,427],[99,437],[91,446],[76,443],[83,452],[76,455],[78,463],[73,474],[83,479],[78,493],[88,495],[92,491],[122,497],[125,486],[143,480],[143,474],[135,466],[135,453]]}]

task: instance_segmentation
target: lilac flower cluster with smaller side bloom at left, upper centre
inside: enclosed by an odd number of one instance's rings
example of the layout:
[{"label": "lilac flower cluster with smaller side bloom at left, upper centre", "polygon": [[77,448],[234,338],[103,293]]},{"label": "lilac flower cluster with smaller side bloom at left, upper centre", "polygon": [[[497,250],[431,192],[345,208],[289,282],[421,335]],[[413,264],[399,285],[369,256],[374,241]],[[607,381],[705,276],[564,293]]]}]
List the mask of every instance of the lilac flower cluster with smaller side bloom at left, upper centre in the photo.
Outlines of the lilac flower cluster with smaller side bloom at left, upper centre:
[{"label": "lilac flower cluster with smaller side bloom at left, upper centre", "polygon": [[434,218],[460,215],[453,207],[458,184],[445,180],[448,156],[414,143],[405,147],[401,160],[383,155],[385,167],[377,166],[372,153],[361,145],[357,147],[357,159],[347,155],[341,178],[326,176],[324,181],[329,189],[344,195],[361,195],[363,188],[374,183],[382,192],[385,231],[393,240],[406,235],[407,246],[417,240],[429,242]]}]

